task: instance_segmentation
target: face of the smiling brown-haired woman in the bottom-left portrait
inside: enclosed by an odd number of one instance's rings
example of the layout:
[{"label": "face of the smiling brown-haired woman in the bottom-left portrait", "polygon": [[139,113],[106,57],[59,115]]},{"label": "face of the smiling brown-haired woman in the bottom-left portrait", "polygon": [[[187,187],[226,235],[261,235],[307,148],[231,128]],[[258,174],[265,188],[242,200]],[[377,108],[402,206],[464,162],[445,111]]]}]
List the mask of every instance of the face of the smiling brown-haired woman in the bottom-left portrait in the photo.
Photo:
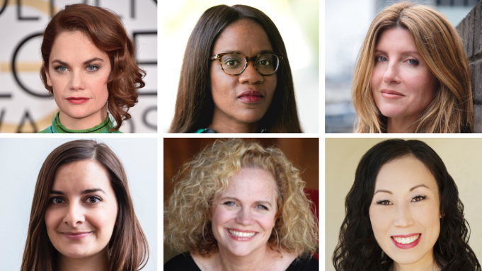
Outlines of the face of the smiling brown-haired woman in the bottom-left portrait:
[{"label": "face of the smiling brown-haired woman in the bottom-left portrait", "polygon": [[86,258],[107,249],[117,199],[107,171],[84,160],[58,168],[45,212],[52,245],[67,258]]}]

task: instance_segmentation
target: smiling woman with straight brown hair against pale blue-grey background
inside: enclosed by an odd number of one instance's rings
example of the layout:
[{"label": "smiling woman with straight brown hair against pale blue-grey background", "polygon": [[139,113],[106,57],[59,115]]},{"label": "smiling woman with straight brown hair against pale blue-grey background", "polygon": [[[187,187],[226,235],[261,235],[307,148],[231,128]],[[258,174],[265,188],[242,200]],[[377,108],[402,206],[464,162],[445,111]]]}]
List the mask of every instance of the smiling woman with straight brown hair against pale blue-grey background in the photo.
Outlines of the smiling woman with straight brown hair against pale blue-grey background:
[{"label": "smiling woman with straight brown hair against pale blue-grey background", "polygon": [[35,185],[21,271],[132,271],[148,258],[127,175],[113,151],[92,140],[54,149]]}]

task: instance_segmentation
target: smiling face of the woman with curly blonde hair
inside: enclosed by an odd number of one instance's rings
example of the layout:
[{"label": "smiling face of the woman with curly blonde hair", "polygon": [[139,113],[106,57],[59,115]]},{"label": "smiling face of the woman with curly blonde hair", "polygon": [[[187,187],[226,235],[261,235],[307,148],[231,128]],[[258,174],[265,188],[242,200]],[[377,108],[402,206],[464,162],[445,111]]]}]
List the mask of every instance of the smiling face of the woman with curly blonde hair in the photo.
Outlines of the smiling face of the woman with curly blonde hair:
[{"label": "smiling face of the woman with curly blonde hair", "polygon": [[212,206],[212,232],[220,253],[246,256],[267,248],[277,212],[275,179],[259,168],[241,168]]}]

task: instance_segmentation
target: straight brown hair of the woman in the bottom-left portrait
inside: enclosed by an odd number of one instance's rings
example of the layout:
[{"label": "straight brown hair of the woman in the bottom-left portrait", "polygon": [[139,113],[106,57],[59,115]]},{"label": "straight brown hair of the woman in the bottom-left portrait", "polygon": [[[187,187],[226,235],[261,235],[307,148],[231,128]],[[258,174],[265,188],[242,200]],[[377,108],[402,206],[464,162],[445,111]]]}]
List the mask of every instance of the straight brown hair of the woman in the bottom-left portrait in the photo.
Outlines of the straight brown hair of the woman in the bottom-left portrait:
[{"label": "straight brown hair of the woman in the bottom-left portrait", "polygon": [[103,143],[75,140],[54,149],[38,173],[28,224],[21,271],[57,270],[58,251],[50,242],[45,212],[57,169],[75,161],[91,160],[105,168],[117,199],[117,219],[108,243],[111,271],[142,269],[149,258],[147,238],[134,212],[127,175],[120,159]]}]

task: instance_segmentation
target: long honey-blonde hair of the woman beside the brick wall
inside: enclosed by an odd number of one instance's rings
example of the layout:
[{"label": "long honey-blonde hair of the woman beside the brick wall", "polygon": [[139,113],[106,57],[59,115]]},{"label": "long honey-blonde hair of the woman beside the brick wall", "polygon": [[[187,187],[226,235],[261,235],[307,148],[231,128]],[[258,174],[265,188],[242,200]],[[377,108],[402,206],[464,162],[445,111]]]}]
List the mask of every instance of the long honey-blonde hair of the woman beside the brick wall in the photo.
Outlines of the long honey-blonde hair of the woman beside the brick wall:
[{"label": "long honey-blonde hair of the woman beside the brick wall", "polygon": [[441,13],[410,2],[385,8],[369,27],[352,79],[355,131],[386,132],[387,119],[375,104],[370,83],[377,38],[389,28],[410,31],[418,53],[438,81],[432,102],[412,125],[413,132],[474,132],[470,70],[461,38]]}]

